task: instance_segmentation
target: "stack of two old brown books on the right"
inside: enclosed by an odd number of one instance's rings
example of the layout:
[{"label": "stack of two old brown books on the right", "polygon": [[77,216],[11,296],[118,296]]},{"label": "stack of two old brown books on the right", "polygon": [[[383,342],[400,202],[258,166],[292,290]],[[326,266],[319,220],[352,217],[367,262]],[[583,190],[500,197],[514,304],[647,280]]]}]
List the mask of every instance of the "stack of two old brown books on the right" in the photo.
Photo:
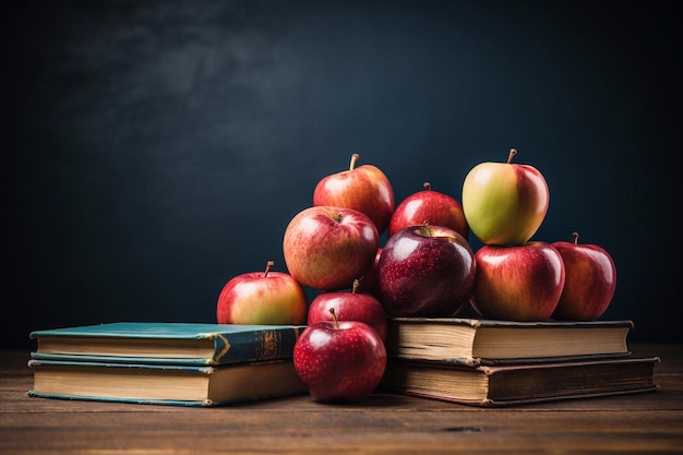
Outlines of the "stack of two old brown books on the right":
[{"label": "stack of two old brown books on the right", "polygon": [[632,321],[390,319],[388,392],[493,407],[651,392],[659,357],[636,358]]}]

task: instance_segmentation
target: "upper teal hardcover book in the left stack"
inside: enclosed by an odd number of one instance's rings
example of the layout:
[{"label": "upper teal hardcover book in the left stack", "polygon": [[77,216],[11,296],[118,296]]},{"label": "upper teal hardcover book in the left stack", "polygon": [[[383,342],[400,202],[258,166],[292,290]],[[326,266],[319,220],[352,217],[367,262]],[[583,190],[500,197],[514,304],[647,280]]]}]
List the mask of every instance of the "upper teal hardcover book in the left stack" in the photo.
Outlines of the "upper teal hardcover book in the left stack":
[{"label": "upper teal hardcover book in the left stack", "polygon": [[35,331],[40,360],[220,366],[291,358],[303,325],[113,322]]}]

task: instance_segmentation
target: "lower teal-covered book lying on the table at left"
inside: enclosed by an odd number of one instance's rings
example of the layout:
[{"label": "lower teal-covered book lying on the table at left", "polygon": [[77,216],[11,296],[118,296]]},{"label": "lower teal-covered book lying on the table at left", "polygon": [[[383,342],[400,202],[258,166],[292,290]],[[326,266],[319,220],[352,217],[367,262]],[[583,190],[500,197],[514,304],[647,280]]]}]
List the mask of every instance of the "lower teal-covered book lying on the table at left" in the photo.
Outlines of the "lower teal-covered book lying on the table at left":
[{"label": "lower teal-covered book lying on the table at left", "polygon": [[229,366],[31,359],[32,397],[212,407],[307,391],[291,359]]}]

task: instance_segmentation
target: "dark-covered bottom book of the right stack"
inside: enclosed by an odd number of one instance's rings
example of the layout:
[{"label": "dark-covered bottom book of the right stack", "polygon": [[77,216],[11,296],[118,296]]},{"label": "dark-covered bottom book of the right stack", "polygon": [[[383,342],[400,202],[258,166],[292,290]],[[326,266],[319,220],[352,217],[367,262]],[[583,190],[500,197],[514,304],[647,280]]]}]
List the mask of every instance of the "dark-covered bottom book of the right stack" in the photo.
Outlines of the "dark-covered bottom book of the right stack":
[{"label": "dark-covered bottom book of the right stack", "polygon": [[481,407],[652,392],[659,357],[466,367],[393,359],[388,392]]}]

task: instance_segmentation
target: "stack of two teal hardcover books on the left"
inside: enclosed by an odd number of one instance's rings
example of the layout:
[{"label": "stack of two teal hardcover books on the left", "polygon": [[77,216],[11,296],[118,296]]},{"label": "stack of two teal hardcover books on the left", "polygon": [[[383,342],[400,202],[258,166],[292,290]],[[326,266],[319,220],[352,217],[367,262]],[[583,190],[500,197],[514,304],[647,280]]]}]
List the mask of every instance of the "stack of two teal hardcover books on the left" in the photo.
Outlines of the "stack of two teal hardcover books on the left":
[{"label": "stack of two teal hardcover books on the left", "polygon": [[117,322],[32,332],[29,396],[219,406],[307,392],[304,326]]}]

